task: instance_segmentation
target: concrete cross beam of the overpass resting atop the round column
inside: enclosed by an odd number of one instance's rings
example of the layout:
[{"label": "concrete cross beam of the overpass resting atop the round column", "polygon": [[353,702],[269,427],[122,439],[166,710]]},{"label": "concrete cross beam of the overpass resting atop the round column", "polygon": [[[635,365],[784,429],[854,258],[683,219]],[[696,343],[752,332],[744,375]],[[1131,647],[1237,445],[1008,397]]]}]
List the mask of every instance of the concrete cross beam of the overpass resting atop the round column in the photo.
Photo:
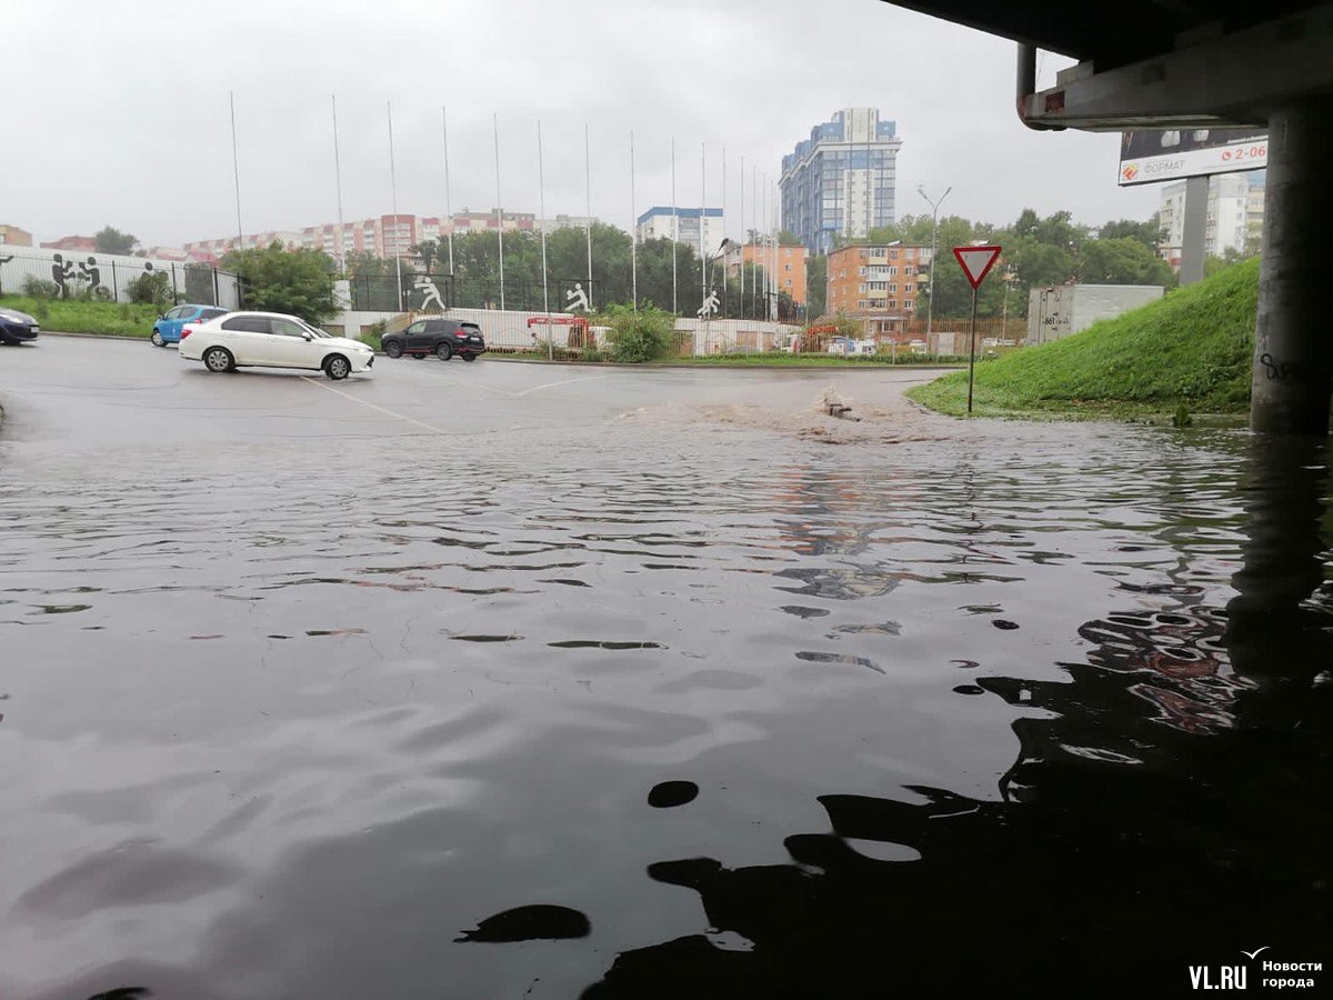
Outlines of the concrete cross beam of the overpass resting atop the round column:
[{"label": "concrete cross beam of the overpass resting atop the round column", "polygon": [[1262,125],[1298,100],[1333,95],[1333,4],[1192,40],[1106,72],[1080,63],[1058,85],[1021,97],[1018,116],[1036,128],[1094,132]]}]

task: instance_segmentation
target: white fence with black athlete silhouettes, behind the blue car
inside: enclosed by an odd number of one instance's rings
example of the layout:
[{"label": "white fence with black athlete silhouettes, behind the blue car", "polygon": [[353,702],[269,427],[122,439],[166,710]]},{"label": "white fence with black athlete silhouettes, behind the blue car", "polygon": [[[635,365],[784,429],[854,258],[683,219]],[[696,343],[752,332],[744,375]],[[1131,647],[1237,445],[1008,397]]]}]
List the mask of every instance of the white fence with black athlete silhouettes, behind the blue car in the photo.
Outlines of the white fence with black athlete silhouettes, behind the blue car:
[{"label": "white fence with black athlete silhouettes, behind the blue car", "polygon": [[241,305],[237,276],[207,264],[0,244],[0,295],[129,303],[156,292],[175,303]]}]

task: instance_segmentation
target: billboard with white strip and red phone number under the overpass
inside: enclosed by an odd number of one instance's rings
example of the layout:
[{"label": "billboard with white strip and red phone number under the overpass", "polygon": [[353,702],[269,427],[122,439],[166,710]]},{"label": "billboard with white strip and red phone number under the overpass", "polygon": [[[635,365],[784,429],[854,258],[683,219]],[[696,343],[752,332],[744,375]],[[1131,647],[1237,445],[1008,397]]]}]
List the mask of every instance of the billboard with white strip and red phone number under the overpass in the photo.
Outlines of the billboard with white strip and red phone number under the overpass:
[{"label": "billboard with white strip and red phone number under the overpass", "polygon": [[1268,167],[1261,128],[1160,128],[1121,132],[1120,187]]}]

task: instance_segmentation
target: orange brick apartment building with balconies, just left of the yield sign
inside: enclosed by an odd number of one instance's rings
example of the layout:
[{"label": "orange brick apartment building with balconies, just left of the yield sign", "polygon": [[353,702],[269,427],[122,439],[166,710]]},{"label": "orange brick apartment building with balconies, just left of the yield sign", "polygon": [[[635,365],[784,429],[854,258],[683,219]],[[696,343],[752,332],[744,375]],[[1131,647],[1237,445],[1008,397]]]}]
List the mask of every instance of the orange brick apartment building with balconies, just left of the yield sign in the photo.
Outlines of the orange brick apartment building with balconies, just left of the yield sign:
[{"label": "orange brick apartment building with balconies, just left of the yield sign", "polygon": [[864,320],[869,336],[897,333],[916,317],[929,273],[929,247],[901,243],[844,247],[828,256],[825,311]]}]

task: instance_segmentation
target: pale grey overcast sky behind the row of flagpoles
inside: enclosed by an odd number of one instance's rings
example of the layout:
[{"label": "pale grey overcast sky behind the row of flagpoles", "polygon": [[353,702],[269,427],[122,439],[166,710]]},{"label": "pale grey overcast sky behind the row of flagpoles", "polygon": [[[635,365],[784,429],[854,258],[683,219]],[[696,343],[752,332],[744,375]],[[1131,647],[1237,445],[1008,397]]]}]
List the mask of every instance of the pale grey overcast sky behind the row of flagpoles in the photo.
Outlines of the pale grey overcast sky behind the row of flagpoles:
[{"label": "pale grey overcast sky behind the row of flagpoles", "polygon": [[[145,245],[236,231],[228,92],[236,96],[245,232],[337,219],[331,97],[337,96],[343,217],[397,207],[443,215],[441,107],[452,207],[583,215],[584,123],[592,211],[721,203],[740,233],[750,172],[838,108],[897,121],[898,216],[953,188],[945,215],[1012,221],[1032,207],[1086,223],[1146,219],[1153,187],[1116,185],[1117,135],[1030,132],[1013,109],[1014,45],[880,0],[8,0],[0,223],[37,240],[105,224]],[[1044,53],[1038,85],[1069,60]],[[746,221],[746,225],[749,223]]]}]

